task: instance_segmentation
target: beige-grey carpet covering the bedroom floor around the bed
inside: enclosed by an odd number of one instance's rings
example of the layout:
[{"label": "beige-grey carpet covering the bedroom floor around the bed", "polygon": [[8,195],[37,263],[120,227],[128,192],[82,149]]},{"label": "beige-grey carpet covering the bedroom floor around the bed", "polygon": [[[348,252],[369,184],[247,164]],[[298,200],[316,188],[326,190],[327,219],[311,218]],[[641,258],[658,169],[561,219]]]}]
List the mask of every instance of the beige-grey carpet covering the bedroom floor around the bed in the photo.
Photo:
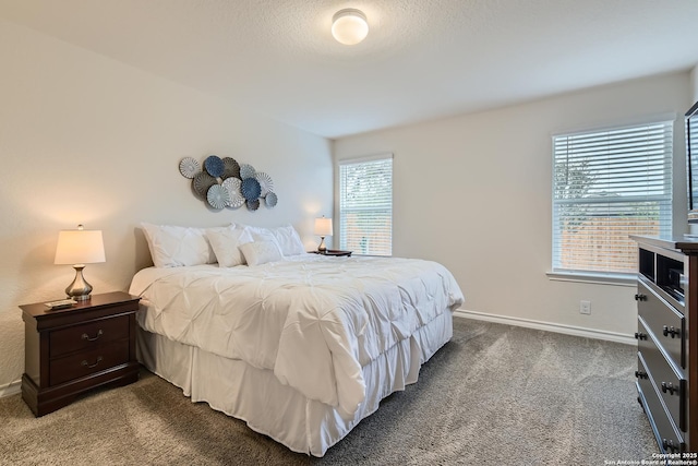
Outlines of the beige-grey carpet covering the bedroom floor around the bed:
[{"label": "beige-grey carpet covering the bedroom floor around the bed", "polygon": [[148,372],[34,418],[0,399],[2,465],[603,465],[658,452],[631,346],[455,320],[420,381],[325,457],[290,452]]}]

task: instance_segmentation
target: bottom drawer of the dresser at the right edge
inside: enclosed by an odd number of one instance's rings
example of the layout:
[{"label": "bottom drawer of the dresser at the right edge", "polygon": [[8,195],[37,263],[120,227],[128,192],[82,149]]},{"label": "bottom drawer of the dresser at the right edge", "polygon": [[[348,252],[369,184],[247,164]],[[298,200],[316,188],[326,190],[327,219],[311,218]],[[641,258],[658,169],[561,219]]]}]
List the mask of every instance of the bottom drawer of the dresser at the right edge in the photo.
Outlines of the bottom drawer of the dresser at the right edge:
[{"label": "bottom drawer of the dresser at the right edge", "polygon": [[[643,401],[643,408],[649,418],[657,443],[664,453],[677,453],[685,450],[684,438],[676,429],[674,422],[664,410],[664,406],[659,398],[651,380],[651,372],[646,367],[642,355],[638,353],[638,379],[637,386],[640,398]],[[645,375],[646,374],[646,375]]]}]

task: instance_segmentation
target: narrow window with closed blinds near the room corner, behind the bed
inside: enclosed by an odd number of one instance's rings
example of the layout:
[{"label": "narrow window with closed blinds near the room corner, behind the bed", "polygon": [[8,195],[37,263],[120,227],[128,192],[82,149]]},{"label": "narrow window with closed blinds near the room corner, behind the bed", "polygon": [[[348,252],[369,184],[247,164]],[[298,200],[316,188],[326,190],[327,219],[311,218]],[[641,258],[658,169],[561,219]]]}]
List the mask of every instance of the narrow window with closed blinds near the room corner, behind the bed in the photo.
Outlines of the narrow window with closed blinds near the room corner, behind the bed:
[{"label": "narrow window with closed blinds near the room corner, behind the bed", "polygon": [[339,163],[339,248],[393,254],[393,156]]}]

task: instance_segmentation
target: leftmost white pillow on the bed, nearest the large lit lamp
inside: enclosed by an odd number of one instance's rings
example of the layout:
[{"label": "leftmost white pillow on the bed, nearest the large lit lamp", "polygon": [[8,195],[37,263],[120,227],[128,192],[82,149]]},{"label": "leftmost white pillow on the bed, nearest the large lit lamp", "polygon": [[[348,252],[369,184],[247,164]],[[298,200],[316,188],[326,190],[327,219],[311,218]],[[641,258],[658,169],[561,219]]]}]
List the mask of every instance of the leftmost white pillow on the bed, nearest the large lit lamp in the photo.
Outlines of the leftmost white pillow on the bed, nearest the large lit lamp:
[{"label": "leftmost white pillow on the bed, nearest the large lit lamp", "polygon": [[142,223],[156,267],[213,264],[216,262],[205,228]]}]

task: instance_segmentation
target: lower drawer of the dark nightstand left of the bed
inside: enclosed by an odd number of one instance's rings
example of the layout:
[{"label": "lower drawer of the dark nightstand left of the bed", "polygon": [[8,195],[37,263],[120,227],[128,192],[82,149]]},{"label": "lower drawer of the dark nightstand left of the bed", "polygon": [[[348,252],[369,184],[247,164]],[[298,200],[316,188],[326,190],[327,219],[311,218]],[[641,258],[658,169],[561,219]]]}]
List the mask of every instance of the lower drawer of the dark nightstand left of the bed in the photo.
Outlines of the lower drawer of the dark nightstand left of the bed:
[{"label": "lower drawer of the dark nightstand left of the bed", "polygon": [[101,345],[95,349],[53,359],[49,363],[49,384],[58,385],[129,361],[129,342]]}]

